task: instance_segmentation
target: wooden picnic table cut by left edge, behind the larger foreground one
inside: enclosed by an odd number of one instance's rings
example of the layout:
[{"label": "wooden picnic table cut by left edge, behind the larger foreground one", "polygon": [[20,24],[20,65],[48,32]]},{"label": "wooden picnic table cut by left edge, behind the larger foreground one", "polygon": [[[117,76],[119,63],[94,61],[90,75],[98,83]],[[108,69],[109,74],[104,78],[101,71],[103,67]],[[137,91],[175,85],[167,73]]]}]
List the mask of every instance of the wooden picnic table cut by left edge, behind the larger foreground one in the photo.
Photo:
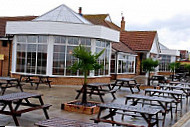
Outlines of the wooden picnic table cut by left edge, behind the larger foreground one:
[{"label": "wooden picnic table cut by left edge, behind the larger foreground one", "polygon": [[11,87],[19,87],[23,92],[22,85],[20,84],[19,79],[11,78],[11,77],[0,77],[0,87],[1,87],[1,95],[3,95],[7,88]]}]

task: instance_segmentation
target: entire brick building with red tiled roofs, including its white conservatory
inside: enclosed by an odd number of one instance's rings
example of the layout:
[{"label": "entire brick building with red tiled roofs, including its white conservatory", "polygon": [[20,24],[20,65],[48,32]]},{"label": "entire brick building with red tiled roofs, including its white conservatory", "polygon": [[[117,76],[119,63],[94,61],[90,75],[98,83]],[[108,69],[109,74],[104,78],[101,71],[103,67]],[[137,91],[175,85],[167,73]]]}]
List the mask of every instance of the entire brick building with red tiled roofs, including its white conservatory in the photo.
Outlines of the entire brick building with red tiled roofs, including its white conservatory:
[{"label": "entire brick building with red tiled roofs, including its white conservatory", "polygon": [[83,15],[81,9],[77,14],[61,5],[39,17],[0,18],[0,59],[4,56],[1,76],[41,74],[54,77],[54,84],[82,84],[81,73],[68,69],[75,61],[72,50],[79,44],[92,53],[106,48],[99,60],[104,69],[92,71],[89,82],[145,74],[143,59],[168,55],[161,53],[157,31],[127,31],[124,17],[119,27],[108,14]]}]

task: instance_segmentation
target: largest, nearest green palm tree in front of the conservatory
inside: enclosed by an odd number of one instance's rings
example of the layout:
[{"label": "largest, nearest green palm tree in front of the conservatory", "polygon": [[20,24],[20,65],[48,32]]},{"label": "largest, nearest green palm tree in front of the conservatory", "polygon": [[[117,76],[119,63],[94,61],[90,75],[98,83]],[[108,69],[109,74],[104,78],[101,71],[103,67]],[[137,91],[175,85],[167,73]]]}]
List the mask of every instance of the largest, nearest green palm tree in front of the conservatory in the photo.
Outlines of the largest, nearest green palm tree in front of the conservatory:
[{"label": "largest, nearest green palm tree in front of the conservatory", "polygon": [[87,103],[87,76],[88,73],[91,70],[97,70],[97,69],[101,69],[103,68],[102,64],[99,64],[97,62],[98,58],[104,53],[103,49],[101,52],[99,53],[95,53],[92,54],[90,51],[88,51],[84,46],[79,45],[78,47],[76,47],[73,51],[73,56],[78,58],[78,61],[76,61],[71,67],[70,69],[74,72],[76,71],[81,71],[84,74],[84,84],[83,84],[83,88],[82,88],[82,104],[86,104]]}]

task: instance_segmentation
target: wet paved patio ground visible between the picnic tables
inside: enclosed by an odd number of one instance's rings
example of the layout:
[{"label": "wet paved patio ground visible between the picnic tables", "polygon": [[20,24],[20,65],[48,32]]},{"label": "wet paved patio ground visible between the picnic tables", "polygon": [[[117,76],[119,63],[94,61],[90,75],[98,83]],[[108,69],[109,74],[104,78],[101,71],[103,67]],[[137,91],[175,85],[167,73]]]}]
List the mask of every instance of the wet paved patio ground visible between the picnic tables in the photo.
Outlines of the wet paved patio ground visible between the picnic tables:
[{"label": "wet paved patio ground visible between the picnic tables", "polygon": [[[31,87],[29,84],[23,86],[25,92],[32,92],[32,93],[40,93],[43,94],[43,100],[47,104],[52,104],[53,106],[49,109],[49,116],[50,118],[53,117],[64,117],[68,119],[76,119],[86,122],[93,122],[90,120],[90,118],[95,118],[97,114],[95,115],[85,115],[80,113],[74,113],[74,112],[67,112],[64,110],[61,110],[61,103],[69,102],[74,100],[76,96],[76,89],[80,89],[81,86],[73,86],[73,85],[53,85],[52,88],[49,88],[46,85],[39,86],[38,90],[35,90],[35,86]],[[138,90],[135,89],[137,92]],[[7,93],[12,92],[20,92],[19,89],[16,88],[10,88],[6,91]],[[143,94],[144,91],[141,91],[139,94]],[[117,91],[116,97],[117,99],[114,100],[114,103],[120,103],[124,104],[125,98],[124,95],[131,94],[130,90],[128,88],[122,88],[121,90]],[[91,101],[97,101],[101,102],[100,98],[98,96],[92,96]],[[104,96],[105,102],[111,102],[112,96],[111,94]],[[166,116],[166,123],[165,127],[170,127],[174,123],[176,123],[182,115],[184,115],[186,112],[189,111],[189,104],[186,106],[186,102],[183,103],[183,111],[182,114],[178,113],[174,115],[174,119],[170,119],[170,114],[167,114]],[[121,120],[121,116],[118,116],[116,119]],[[37,110],[33,112],[29,112],[26,114],[23,114],[21,117],[18,117],[18,120],[20,122],[20,125],[22,126],[34,126],[34,123],[45,120],[45,116],[43,114],[42,110]],[[138,124],[138,125],[145,125],[146,122],[142,118],[131,118],[131,117],[125,117],[125,121],[132,124]],[[103,123],[99,123],[103,124]],[[2,126],[14,126],[14,121],[11,116],[6,115],[0,115],[0,125]],[[109,124],[106,124],[110,126]],[[160,122],[160,126],[161,126]]]}]

